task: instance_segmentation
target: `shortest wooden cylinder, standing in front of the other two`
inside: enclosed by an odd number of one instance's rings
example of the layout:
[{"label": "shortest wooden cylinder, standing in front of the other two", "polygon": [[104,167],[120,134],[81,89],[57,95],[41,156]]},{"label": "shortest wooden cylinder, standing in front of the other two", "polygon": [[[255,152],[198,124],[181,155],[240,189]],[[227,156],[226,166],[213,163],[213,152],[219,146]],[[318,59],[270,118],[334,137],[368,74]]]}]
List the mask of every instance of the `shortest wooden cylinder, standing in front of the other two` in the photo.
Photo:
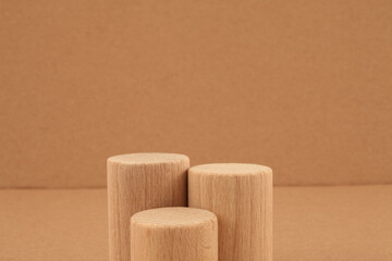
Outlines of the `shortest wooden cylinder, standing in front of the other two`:
[{"label": "shortest wooden cylinder, standing in front of the other two", "polygon": [[131,219],[132,261],[218,261],[217,216],[192,208],[162,208]]}]

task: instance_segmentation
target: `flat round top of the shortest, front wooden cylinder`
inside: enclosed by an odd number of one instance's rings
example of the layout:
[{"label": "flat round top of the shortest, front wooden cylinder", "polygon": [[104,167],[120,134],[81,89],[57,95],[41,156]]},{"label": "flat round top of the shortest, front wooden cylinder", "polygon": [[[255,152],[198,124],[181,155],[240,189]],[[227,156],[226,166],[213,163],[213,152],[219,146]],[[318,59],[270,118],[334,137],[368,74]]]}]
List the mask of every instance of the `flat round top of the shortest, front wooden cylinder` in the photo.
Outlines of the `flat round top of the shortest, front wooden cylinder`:
[{"label": "flat round top of the shortest, front wooden cylinder", "polygon": [[217,216],[208,210],[181,207],[145,210],[131,219],[133,223],[158,226],[189,226],[212,220],[217,220]]}]

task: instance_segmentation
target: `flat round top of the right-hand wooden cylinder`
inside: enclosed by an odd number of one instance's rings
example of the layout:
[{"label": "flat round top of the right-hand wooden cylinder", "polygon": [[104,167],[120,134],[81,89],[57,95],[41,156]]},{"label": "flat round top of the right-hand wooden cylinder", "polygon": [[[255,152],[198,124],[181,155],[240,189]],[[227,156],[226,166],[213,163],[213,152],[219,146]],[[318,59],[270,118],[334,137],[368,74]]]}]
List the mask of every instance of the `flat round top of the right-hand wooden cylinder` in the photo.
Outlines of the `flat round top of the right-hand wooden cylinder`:
[{"label": "flat round top of the right-hand wooden cylinder", "polygon": [[203,174],[257,174],[272,173],[269,166],[247,163],[213,163],[197,165],[189,169],[193,173]]}]

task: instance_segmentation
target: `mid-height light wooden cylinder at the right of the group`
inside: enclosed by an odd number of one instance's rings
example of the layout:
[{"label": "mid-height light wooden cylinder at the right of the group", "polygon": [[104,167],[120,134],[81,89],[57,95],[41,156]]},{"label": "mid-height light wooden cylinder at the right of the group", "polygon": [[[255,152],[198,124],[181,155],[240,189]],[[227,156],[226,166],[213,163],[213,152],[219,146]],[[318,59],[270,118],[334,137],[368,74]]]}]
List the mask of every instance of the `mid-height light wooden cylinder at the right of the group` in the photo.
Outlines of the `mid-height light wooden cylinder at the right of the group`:
[{"label": "mid-height light wooden cylinder at the right of the group", "polygon": [[272,261],[272,170],[206,164],[188,171],[188,204],[218,216],[220,261]]}]

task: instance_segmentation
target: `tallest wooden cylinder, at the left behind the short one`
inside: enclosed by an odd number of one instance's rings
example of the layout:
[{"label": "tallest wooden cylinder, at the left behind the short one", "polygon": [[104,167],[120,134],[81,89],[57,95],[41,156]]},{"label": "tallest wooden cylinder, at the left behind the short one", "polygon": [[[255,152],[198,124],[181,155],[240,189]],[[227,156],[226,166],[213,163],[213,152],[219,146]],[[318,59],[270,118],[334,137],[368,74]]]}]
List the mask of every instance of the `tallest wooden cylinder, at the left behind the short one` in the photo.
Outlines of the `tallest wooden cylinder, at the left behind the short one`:
[{"label": "tallest wooden cylinder, at the left behind the short one", "polygon": [[130,261],[130,219],[142,210],[186,206],[189,159],[134,153],[108,159],[109,260]]}]

